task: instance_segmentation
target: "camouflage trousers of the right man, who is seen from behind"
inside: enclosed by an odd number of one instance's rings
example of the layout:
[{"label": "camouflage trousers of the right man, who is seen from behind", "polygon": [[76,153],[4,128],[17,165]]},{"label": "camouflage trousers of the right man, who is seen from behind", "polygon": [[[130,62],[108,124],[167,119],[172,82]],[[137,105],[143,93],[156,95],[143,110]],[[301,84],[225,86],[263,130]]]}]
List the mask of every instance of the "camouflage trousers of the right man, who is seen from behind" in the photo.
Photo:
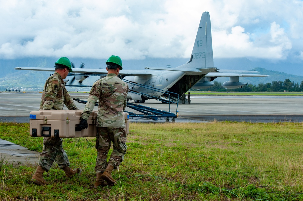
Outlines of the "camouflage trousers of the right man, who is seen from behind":
[{"label": "camouflage trousers of the right man, who is seen from behind", "polygon": [[[96,173],[102,173],[108,164],[114,166],[117,169],[124,159],[126,153],[126,131],[125,128],[106,128],[97,127],[97,160],[95,171]],[[113,144],[114,150],[111,157],[107,160],[107,154],[111,145]]]}]

